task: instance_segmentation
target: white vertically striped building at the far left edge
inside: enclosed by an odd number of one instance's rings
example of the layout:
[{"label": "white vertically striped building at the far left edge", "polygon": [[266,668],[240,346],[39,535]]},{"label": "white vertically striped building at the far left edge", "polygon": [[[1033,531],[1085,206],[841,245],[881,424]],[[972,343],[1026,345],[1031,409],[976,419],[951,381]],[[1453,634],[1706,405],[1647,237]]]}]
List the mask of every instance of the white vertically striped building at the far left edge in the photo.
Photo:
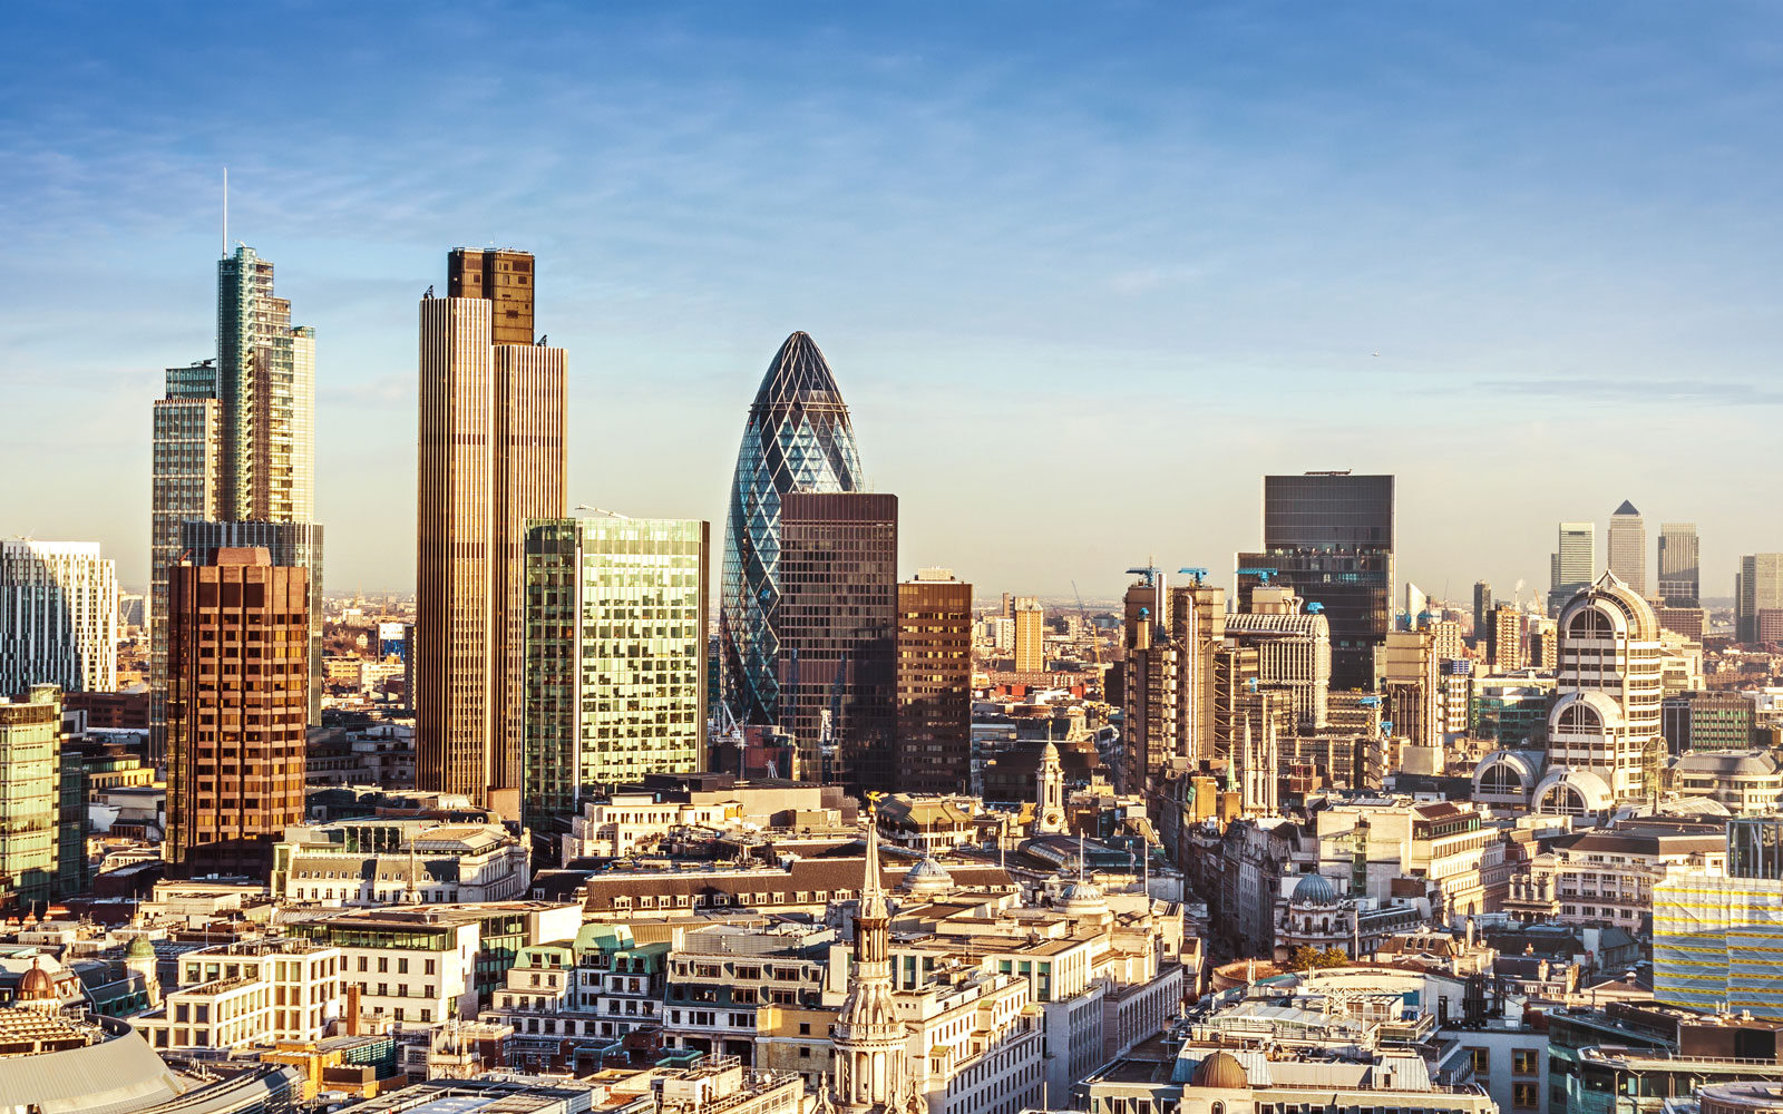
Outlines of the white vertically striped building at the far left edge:
[{"label": "white vertically striped building at the far left edge", "polygon": [[118,688],[118,565],[98,542],[0,542],[0,693]]}]

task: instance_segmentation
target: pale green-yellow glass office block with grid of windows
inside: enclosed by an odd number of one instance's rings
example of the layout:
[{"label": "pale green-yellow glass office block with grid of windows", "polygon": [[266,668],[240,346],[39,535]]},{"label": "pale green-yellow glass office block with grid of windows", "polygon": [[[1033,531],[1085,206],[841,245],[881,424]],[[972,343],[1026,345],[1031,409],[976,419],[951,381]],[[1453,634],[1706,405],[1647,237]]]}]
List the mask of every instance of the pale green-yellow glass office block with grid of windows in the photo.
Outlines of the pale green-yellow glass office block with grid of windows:
[{"label": "pale green-yellow glass office block with grid of windows", "polygon": [[526,822],[597,788],[690,774],[706,749],[711,528],[546,519],[526,529]]}]

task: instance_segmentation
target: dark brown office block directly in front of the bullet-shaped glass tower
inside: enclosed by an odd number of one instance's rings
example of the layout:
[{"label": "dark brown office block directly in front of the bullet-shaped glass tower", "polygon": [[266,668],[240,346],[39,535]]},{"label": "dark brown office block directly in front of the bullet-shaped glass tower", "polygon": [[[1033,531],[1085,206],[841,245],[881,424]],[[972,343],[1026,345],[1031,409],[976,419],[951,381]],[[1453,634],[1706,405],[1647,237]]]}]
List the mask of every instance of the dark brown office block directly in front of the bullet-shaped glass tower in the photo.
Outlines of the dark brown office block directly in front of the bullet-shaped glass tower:
[{"label": "dark brown office block directly in front of the bullet-shaped glass tower", "polygon": [[779,529],[781,725],[804,777],[895,784],[897,496],[788,492]]}]

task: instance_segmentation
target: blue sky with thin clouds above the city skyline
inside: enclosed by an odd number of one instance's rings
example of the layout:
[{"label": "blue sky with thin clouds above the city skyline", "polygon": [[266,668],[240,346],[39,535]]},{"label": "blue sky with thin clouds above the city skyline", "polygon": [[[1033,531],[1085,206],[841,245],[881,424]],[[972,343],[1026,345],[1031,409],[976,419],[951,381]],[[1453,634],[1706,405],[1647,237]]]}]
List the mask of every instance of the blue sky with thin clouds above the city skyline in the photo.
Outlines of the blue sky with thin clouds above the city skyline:
[{"label": "blue sky with thin clouds above the city skyline", "polygon": [[[1107,595],[1261,474],[1400,476],[1400,572],[1555,522],[1783,549],[1774,5],[68,5],[0,45],[0,533],[146,576],[150,399],[230,237],[317,330],[332,590],[414,579],[415,299],[538,255],[572,503],[722,528],[808,330],[904,567]],[[1378,356],[1373,353],[1380,353]],[[717,529],[715,529],[717,535]]]}]

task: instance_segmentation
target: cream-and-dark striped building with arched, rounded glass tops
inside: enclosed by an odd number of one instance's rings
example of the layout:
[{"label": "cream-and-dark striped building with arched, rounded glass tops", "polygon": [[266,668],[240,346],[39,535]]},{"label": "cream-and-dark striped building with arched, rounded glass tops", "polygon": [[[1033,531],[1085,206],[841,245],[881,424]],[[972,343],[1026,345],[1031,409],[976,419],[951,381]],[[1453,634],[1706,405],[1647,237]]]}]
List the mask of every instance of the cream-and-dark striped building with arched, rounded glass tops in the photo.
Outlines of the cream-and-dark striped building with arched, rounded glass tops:
[{"label": "cream-and-dark striped building with arched, rounded glass tops", "polygon": [[1548,708],[1542,813],[1599,815],[1660,791],[1665,738],[1660,624],[1633,588],[1605,572],[1560,610],[1560,668]]}]

